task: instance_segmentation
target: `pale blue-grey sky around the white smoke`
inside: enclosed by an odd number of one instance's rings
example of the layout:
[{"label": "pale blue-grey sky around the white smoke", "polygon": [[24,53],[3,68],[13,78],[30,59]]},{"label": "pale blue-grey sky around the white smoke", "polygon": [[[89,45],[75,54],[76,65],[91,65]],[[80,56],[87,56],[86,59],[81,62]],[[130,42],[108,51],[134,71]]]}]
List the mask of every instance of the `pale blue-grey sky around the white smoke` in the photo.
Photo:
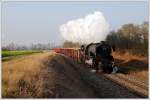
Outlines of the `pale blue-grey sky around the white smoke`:
[{"label": "pale blue-grey sky around the white smoke", "polygon": [[123,24],[148,21],[148,2],[2,2],[2,46],[9,43],[62,44],[60,25],[101,11],[117,30]]}]

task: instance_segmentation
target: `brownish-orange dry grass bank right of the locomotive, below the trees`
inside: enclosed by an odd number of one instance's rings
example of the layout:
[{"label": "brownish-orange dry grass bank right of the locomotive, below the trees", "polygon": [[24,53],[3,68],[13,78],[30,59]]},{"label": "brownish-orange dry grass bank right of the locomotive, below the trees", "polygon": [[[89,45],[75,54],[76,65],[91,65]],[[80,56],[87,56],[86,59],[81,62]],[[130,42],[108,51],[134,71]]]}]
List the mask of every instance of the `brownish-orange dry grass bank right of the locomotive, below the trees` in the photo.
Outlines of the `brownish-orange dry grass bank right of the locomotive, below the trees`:
[{"label": "brownish-orange dry grass bank right of the locomotive, below the trees", "polygon": [[129,69],[130,76],[148,83],[148,57],[132,55],[128,52],[113,53],[116,65]]}]

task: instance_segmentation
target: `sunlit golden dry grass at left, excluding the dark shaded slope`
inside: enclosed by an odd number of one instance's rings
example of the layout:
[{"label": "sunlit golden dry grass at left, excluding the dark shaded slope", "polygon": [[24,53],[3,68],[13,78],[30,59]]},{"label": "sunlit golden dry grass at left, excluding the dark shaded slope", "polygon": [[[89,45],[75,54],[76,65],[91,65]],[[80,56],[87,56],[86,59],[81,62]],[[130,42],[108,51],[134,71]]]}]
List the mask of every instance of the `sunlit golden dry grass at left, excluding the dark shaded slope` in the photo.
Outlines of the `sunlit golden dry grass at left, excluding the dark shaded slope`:
[{"label": "sunlit golden dry grass at left, excluding the dark shaded slope", "polygon": [[3,62],[2,97],[35,97],[42,61],[47,56],[40,53]]}]

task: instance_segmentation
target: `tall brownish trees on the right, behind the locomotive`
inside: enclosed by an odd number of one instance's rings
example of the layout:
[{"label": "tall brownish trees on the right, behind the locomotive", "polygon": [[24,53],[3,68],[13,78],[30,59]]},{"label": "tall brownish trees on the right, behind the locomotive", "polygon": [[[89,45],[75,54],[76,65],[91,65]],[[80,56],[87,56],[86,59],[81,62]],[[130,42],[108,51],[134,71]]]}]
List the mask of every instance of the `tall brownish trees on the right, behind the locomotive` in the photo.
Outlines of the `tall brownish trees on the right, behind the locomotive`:
[{"label": "tall brownish trees on the right, behind the locomotive", "polygon": [[148,55],[148,22],[141,25],[124,24],[117,31],[111,31],[106,40],[116,45],[118,51]]}]

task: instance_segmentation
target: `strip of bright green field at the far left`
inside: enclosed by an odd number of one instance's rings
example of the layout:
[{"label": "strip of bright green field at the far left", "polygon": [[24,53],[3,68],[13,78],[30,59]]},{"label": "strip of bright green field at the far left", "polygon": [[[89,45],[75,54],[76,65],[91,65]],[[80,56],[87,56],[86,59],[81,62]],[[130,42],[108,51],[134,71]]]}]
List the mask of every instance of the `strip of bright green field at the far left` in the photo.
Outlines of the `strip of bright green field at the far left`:
[{"label": "strip of bright green field at the far left", "polygon": [[13,57],[18,55],[27,55],[33,53],[40,53],[39,50],[18,50],[18,51],[2,51],[2,58],[4,57]]}]

